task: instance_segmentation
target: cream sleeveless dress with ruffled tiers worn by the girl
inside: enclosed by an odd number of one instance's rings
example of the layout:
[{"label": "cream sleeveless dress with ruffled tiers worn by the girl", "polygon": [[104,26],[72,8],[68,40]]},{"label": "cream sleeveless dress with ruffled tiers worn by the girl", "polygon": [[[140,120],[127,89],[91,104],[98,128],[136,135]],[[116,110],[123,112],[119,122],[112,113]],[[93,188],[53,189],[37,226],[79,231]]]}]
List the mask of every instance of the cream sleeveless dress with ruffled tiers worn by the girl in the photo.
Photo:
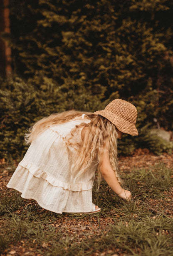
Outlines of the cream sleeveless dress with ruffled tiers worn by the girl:
[{"label": "cream sleeveless dress with ruffled tiers worn by the girl", "polygon": [[[91,163],[74,182],[65,143],[76,125],[89,122],[83,114],[67,123],[50,126],[31,143],[7,187],[20,191],[23,198],[35,199],[42,208],[55,213],[94,211],[92,187],[96,166]],[[80,141],[81,129],[77,134],[75,139]],[[73,156],[74,148],[70,151]]]}]

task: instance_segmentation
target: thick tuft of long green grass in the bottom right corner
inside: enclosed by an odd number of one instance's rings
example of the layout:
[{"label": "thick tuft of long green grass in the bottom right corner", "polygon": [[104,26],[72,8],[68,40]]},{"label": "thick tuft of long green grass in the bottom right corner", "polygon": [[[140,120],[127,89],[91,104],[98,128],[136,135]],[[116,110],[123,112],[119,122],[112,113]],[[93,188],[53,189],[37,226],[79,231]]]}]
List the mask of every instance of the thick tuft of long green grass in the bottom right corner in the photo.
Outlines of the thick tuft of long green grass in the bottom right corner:
[{"label": "thick tuft of long green grass in the bottom right corner", "polygon": [[[173,254],[173,239],[168,235],[173,220],[158,217],[145,217],[141,221],[119,221],[111,225],[111,231],[105,242],[128,250],[128,255],[160,256]],[[167,233],[166,233],[167,231]]]}]

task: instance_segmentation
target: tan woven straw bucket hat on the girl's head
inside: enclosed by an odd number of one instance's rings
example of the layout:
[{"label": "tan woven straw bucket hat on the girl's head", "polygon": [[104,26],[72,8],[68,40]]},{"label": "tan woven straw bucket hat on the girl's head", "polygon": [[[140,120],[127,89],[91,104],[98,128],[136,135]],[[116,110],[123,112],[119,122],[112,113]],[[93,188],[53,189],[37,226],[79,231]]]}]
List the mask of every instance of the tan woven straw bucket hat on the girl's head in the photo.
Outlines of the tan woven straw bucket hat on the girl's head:
[{"label": "tan woven straw bucket hat on the girl's head", "polygon": [[94,112],[96,115],[106,117],[122,133],[138,135],[136,129],[137,109],[126,100],[116,99],[111,101],[104,110]]}]

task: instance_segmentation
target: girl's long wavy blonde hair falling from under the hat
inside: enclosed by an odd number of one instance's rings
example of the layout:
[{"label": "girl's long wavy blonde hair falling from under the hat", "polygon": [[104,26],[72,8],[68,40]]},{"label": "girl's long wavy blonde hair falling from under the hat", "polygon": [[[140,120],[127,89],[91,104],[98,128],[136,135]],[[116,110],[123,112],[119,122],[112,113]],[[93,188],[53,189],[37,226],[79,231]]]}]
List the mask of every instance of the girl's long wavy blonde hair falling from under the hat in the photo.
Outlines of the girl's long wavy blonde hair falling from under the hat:
[{"label": "girl's long wavy blonde hair falling from under the hat", "polygon": [[[116,173],[116,177],[121,183],[121,179],[117,172],[118,159],[117,159],[117,132],[116,127],[108,119],[101,115],[95,115],[89,112],[80,112],[76,110],[70,110],[63,113],[52,114],[46,118],[42,118],[35,125],[33,125],[29,133],[25,135],[25,141],[30,144],[37,136],[44,132],[49,125],[55,125],[68,122],[74,118],[80,117],[85,114],[86,118],[91,120],[90,123],[81,123],[76,125],[70,136],[66,139],[67,148],[72,146],[75,150],[75,159],[72,160],[72,173],[75,177],[79,177],[84,171],[89,168],[91,163],[94,163],[99,170],[98,179],[100,181],[100,168],[99,163],[104,152],[104,148],[109,150],[109,160],[111,167]],[[82,128],[87,127],[87,132],[84,136],[84,140],[78,142],[76,138],[77,131],[82,131]]]}]

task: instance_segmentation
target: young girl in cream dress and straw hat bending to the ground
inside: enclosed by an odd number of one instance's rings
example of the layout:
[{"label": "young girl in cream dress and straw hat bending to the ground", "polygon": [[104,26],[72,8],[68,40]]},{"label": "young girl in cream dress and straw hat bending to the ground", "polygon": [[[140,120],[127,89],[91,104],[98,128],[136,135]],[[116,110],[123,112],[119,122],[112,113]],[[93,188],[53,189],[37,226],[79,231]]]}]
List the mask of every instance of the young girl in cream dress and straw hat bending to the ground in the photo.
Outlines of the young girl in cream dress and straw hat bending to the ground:
[{"label": "young girl in cream dress and straw hat bending to the ground", "polygon": [[137,110],[116,99],[95,113],[67,111],[43,118],[30,128],[31,144],[7,184],[55,213],[94,213],[92,203],[96,168],[121,198],[130,191],[121,187],[117,173],[117,139],[123,133],[138,135]]}]

